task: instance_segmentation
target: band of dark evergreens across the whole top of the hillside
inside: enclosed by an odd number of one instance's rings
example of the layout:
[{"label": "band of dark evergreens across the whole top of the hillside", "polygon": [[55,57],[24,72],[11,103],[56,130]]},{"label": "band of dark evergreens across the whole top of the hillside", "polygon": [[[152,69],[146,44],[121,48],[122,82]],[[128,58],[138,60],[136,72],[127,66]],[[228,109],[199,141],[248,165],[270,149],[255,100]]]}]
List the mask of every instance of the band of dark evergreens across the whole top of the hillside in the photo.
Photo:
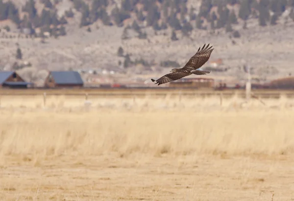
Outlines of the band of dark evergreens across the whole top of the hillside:
[{"label": "band of dark evergreens across the whole top of the hillside", "polygon": [[[54,9],[59,1],[40,0],[45,8],[38,15],[35,0],[27,0],[22,8],[26,15],[20,19],[19,10],[11,1],[0,0],[0,20],[10,19],[19,27],[31,29],[32,33],[35,28],[40,27],[42,32],[47,31],[53,36],[65,35],[63,25],[67,23],[67,18],[74,16],[74,13],[70,9],[59,18]],[[170,26],[173,30],[181,30],[183,35],[189,35],[194,27],[225,28],[227,32],[231,32],[233,24],[240,22],[237,19],[241,19],[243,26],[246,27],[246,20],[249,17],[256,18],[260,26],[274,25],[288,7],[292,8],[290,18],[294,20],[294,0],[202,0],[197,14],[193,6],[187,7],[187,0],[122,0],[121,5],[115,6],[111,11],[109,6],[112,0],[71,1],[74,9],[82,14],[80,27],[98,20],[104,25],[123,26],[124,20],[135,16],[131,28],[139,33],[140,38],[147,37],[139,24],[151,26],[155,31]],[[138,6],[139,3],[141,6]],[[240,10],[229,10],[227,4],[239,4]],[[212,10],[214,7],[217,9]],[[270,11],[273,15],[270,15]],[[174,34],[173,40],[177,40]]]}]

